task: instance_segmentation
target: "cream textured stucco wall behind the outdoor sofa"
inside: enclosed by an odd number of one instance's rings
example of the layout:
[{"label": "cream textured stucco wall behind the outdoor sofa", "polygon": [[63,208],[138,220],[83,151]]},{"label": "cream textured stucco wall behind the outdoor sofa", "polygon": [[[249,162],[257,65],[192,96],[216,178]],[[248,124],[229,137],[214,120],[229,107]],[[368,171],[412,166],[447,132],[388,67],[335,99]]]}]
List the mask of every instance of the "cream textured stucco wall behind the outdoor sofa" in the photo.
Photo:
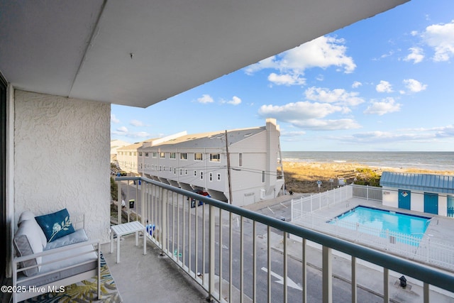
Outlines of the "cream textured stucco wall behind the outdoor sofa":
[{"label": "cream textured stucco wall behind the outdoor sofa", "polygon": [[110,104],[15,92],[14,216],[67,208],[109,241]]}]

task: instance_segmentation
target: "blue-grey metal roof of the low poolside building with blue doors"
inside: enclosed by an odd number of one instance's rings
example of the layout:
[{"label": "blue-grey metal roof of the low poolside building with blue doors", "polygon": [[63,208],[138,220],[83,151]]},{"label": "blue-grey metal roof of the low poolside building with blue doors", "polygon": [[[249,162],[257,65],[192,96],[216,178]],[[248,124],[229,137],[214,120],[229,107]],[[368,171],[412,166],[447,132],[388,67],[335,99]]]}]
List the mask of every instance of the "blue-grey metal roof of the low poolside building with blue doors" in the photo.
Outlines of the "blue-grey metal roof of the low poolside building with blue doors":
[{"label": "blue-grey metal roof of the low poolside building with blue doors", "polygon": [[399,189],[416,189],[424,192],[454,194],[454,176],[383,172],[380,185]]}]

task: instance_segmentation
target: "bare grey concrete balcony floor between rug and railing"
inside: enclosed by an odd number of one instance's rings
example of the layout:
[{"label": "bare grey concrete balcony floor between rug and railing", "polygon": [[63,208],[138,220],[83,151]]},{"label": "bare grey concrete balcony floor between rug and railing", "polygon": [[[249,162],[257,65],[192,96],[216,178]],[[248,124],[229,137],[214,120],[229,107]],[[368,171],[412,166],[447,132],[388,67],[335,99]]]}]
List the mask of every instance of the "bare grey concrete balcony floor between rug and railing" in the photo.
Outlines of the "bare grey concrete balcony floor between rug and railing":
[{"label": "bare grey concrete balcony floor between rug and railing", "polygon": [[161,257],[150,241],[143,255],[141,237],[138,246],[134,234],[122,237],[120,263],[116,263],[116,243],[112,253],[110,243],[101,245],[123,302],[206,302],[206,292],[172,260]]}]

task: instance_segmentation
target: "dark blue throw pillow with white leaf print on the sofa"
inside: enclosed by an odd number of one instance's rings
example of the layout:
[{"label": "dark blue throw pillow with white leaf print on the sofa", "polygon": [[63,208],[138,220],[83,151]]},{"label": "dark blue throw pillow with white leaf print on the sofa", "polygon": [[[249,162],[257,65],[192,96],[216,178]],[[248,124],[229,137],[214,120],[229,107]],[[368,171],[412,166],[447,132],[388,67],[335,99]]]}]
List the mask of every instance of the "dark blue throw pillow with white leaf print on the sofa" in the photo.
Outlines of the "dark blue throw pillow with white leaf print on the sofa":
[{"label": "dark blue throw pillow with white leaf print on the sofa", "polygon": [[67,209],[62,209],[53,214],[35,216],[35,219],[43,229],[45,238],[48,239],[48,243],[57,238],[61,238],[62,236],[74,233],[75,231]]}]

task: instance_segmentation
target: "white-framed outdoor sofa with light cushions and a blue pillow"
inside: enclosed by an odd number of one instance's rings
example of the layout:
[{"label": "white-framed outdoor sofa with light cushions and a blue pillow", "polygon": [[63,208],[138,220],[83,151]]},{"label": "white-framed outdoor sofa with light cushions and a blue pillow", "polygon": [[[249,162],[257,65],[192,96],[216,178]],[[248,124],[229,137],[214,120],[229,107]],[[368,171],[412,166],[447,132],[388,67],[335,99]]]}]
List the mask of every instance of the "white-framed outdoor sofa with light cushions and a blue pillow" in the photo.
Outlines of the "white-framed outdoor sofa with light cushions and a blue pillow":
[{"label": "white-framed outdoor sofa with light cushions and a blue pillow", "polygon": [[[100,296],[99,241],[89,241],[84,216],[72,217],[67,209],[37,216],[24,211],[13,239],[13,303],[97,276]],[[39,224],[38,224],[39,222]],[[76,229],[74,226],[82,225]]]}]

